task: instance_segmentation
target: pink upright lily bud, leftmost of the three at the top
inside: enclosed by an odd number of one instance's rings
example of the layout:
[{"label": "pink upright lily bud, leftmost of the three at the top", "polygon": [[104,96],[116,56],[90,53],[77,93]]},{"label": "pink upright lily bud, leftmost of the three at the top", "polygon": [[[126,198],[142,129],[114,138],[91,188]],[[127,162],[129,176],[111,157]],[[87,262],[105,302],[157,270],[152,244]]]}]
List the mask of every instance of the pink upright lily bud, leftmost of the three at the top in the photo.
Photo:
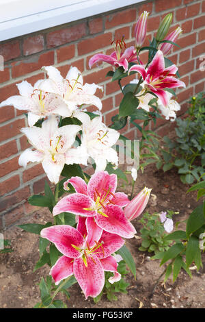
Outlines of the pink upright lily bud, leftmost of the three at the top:
[{"label": "pink upright lily bud, leftmost of the three at the top", "polygon": [[137,42],[136,47],[140,48],[146,38],[147,33],[147,23],[148,23],[149,12],[144,11],[139,16],[139,19],[135,25],[135,39]]}]

